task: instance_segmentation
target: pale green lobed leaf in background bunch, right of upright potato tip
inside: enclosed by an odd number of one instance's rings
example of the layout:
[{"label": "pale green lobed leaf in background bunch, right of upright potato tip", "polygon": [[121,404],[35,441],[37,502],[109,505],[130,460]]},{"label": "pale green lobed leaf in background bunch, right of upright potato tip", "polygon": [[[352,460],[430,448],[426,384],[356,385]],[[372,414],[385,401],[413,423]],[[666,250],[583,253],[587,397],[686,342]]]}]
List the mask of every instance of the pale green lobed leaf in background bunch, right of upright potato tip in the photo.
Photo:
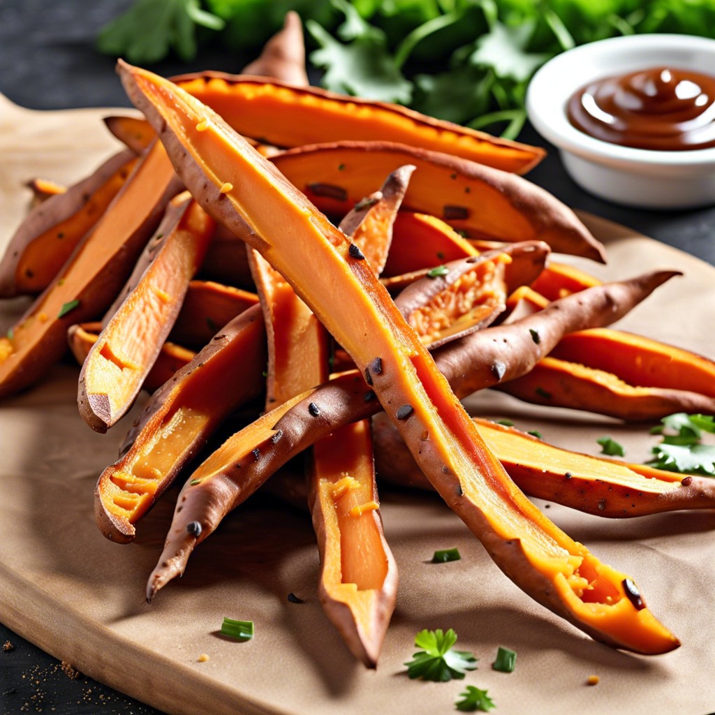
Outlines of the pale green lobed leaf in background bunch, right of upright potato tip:
[{"label": "pale green lobed leaf in background bunch, right of upright potato tip", "polygon": [[323,87],[381,102],[410,102],[412,82],[395,65],[384,39],[360,36],[342,44],[315,21],[308,20],[305,28],[320,45],[310,54],[310,61],[325,68]]}]

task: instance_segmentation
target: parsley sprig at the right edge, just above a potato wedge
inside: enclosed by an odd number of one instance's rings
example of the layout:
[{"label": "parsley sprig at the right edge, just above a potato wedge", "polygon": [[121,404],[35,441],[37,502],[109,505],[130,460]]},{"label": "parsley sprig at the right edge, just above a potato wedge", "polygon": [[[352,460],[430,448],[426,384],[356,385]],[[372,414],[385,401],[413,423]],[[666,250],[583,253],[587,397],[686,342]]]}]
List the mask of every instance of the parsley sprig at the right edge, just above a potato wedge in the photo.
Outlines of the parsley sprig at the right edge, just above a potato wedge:
[{"label": "parsley sprig at the right edge, just above a potato wedge", "polygon": [[715,433],[715,418],[676,413],[664,417],[661,423],[651,430],[663,435],[663,440],[651,450],[654,459],[649,466],[715,477],[715,445],[702,443],[704,432]]}]

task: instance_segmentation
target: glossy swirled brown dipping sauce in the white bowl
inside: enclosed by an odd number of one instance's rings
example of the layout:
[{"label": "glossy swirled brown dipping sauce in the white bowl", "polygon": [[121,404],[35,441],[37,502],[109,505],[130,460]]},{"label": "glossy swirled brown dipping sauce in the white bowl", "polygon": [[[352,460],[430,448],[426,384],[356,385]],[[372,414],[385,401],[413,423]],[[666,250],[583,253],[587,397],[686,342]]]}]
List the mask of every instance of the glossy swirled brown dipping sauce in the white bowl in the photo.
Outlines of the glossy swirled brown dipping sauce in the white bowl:
[{"label": "glossy swirled brown dipping sauce in the white bowl", "polygon": [[623,147],[681,152],[715,147],[715,77],[654,67],[598,79],[568,101],[576,129]]}]

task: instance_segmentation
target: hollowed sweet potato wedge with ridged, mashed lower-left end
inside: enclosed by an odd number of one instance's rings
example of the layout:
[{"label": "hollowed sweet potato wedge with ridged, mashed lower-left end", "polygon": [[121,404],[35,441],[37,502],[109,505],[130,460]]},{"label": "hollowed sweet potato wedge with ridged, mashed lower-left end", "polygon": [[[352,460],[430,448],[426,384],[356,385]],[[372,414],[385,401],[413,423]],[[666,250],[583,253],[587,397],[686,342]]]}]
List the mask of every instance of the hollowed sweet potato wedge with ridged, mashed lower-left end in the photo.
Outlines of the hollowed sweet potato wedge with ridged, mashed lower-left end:
[{"label": "hollowed sweet potato wedge with ridged, mashed lower-left end", "polygon": [[178,470],[232,410],[260,393],[264,367],[265,329],[256,305],[226,325],[144,407],[122,457],[97,482],[95,515],[104,536],[119,543],[134,539],[134,524]]}]

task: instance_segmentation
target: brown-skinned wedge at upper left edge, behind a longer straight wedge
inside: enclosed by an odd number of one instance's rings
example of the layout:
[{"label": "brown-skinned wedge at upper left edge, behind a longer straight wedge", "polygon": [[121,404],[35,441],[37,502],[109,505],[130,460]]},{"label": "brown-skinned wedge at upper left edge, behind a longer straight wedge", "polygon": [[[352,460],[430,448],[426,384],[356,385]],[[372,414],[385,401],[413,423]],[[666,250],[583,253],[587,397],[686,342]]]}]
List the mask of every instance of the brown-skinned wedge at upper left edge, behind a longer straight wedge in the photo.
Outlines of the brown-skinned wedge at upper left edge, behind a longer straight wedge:
[{"label": "brown-skinned wedge at upper left edge, behind a longer straight wedge", "polygon": [[137,159],[120,152],[81,182],[41,202],[18,227],[0,263],[0,297],[42,292],[122,188]]}]

